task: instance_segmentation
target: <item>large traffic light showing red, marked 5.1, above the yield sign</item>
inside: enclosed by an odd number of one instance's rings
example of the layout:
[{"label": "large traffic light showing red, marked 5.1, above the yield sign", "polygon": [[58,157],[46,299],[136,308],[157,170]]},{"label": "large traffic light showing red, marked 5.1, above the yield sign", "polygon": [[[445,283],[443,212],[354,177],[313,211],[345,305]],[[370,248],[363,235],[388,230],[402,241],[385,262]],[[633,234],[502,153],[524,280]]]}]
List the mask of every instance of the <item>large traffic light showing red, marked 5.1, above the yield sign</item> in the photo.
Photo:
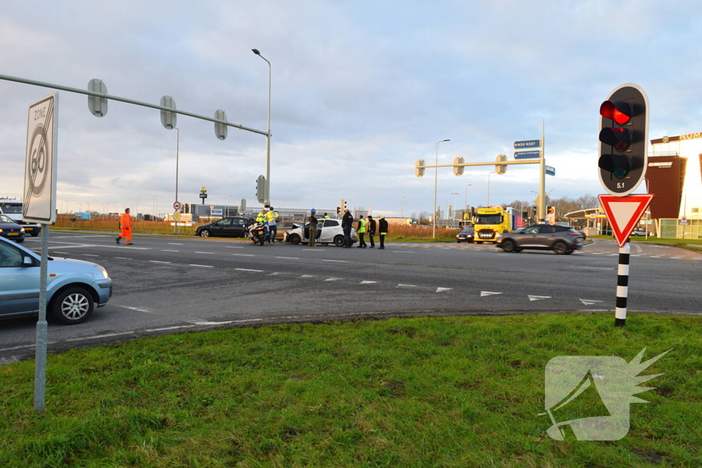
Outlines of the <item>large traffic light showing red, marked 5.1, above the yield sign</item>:
[{"label": "large traffic light showing red, marked 5.1, above the yield sign", "polygon": [[649,98],[633,83],[618,86],[600,105],[600,183],[625,196],[644,180],[649,137]]}]

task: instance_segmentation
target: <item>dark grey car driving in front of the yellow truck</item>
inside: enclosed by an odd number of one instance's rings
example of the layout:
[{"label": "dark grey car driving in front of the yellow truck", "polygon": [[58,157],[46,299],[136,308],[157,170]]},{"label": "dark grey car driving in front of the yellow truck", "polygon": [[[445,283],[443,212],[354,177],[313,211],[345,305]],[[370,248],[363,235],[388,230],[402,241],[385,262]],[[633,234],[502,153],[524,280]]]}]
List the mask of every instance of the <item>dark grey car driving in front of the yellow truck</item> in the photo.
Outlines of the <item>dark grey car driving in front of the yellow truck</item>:
[{"label": "dark grey car driving in front of the yellow truck", "polygon": [[553,250],[558,255],[573,253],[582,246],[581,234],[558,225],[532,225],[522,232],[507,232],[497,237],[497,246],[505,252],[523,249]]}]

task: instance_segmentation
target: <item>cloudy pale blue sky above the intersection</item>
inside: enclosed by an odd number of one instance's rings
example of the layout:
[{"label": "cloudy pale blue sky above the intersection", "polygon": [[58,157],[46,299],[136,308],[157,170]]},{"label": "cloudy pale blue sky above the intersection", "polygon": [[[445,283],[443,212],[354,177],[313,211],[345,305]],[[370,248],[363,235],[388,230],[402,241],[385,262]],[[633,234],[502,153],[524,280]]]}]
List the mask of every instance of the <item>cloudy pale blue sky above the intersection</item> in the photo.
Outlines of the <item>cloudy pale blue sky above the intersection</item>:
[{"label": "cloudy pale blue sky above the intersection", "polygon": [[[617,27],[619,25],[620,27]],[[552,198],[604,193],[599,107],[621,83],[650,102],[649,140],[702,131],[702,9],[695,1],[15,1],[0,10],[0,74],[108,93],[265,131],[272,67],[276,208],[430,211],[428,165],[513,159],[545,126]],[[0,80],[0,196],[22,196],[27,107],[49,88]],[[176,131],[159,111],[59,91],[60,213],[170,212]],[[178,116],[178,199],[256,201],[265,136]],[[437,173],[437,206],[532,201],[538,166]],[[642,189],[639,190],[642,192]]]}]

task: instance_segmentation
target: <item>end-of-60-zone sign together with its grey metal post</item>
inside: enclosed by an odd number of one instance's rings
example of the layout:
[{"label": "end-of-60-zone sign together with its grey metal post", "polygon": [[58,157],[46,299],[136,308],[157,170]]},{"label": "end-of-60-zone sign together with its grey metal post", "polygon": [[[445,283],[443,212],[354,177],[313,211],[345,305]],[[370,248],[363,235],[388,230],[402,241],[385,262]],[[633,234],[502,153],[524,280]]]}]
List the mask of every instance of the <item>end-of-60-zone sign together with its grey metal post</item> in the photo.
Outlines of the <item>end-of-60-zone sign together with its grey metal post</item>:
[{"label": "end-of-60-zone sign together with its grey metal post", "polygon": [[56,167],[58,143],[58,93],[29,105],[25,153],[25,198],[22,221],[41,224],[39,267],[39,321],[34,365],[34,410],[46,408],[46,283],[48,276],[48,227],[56,220]]}]

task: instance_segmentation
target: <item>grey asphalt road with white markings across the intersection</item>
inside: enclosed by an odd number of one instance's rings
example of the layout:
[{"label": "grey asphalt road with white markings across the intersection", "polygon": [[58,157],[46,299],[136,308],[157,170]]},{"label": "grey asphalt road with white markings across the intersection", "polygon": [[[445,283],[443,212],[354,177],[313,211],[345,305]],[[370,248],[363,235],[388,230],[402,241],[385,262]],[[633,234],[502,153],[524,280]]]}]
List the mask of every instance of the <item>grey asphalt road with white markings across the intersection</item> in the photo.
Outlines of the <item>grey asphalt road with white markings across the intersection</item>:
[{"label": "grey asphalt road with white markings across the intersection", "polygon": [[[39,250],[41,238],[25,246]],[[49,322],[59,352],[135,336],[359,315],[613,310],[618,248],[572,255],[503,253],[491,245],[387,243],[377,248],[256,246],[224,239],[51,234],[53,257],[96,262],[114,295],[78,326]],[[699,314],[702,255],[632,245],[629,311]],[[613,316],[614,321],[614,316]],[[36,319],[0,322],[0,364],[34,355]]]}]

